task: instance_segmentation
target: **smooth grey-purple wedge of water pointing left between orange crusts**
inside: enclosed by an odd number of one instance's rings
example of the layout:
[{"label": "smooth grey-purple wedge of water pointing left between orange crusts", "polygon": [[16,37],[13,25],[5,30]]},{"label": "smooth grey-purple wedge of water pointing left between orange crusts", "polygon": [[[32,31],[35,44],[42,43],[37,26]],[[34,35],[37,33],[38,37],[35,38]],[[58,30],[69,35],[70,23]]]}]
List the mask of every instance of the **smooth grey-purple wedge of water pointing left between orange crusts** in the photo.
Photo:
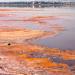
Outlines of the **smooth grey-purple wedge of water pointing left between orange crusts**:
[{"label": "smooth grey-purple wedge of water pointing left between orange crusts", "polygon": [[60,34],[55,35],[54,37],[32,40],[31,42],[34,44],[44,45],[50,48],[74,50],[75,32],[74,29],[73,31],[64,31]]}]

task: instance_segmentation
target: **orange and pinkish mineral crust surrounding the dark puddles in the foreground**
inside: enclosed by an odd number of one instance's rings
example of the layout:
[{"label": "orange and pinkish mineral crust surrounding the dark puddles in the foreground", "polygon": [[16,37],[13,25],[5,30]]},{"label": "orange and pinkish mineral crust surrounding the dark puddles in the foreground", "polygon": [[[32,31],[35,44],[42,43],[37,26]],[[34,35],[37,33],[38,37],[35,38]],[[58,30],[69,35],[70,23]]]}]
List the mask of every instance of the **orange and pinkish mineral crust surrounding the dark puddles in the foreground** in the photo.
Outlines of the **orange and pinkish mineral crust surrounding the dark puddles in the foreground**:
[{"label": "orange and pinkish mineral crust surrounding the dark puddles in the foreground", "polygon": [[[35,57],[35,56],[31,57],[31,53],[35,53],[35,52],[43,53],[49,56],[60,55],[61,57],[62,57],[62,54],[64,54],[64,51],[60,51],[59,49],[55,49],[55,48],[50,49],[47,47],[41,47],[41,46],[32,45],[32,44],[11,44],[10,46],[0,45],[0,58],[2,59],[1,62],[3,64],[6,63],[7,66],[6,67],[4,66],[4,68],[7,68],[8,70],[7,73],[9,74],[12,74],[12,75],[14,74],[15,75],[19,75],[19,74],[33,75],[34,74],[35,75],[40,72],[40,74],[43,75],[44,72],[47,72],[48,75],[50,75],[51,73],[53,73],[52,75],[56,73],[59,75],[61,74],[72,75],[69,69],[69,66],[67,64],[56,63],[52,61],[51,59],[48,59],[48,57],[46,56],[42,57],[42,55],[41,57]],[[65,52],[65,55],[66,54],[68,53]],[[10,67],[8,66],[8,64],[10,65]]]}]

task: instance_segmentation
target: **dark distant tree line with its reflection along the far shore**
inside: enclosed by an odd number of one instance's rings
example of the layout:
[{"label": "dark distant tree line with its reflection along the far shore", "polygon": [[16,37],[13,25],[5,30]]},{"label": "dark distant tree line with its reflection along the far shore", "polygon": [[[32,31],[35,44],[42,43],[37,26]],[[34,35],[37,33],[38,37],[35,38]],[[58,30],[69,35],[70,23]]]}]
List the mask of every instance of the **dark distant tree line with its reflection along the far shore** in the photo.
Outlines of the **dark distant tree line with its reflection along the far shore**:
[{"label": "dark distant tree line with its reflection along the far shore", "polygon": [[49,1],[0,2],[0,7],[48,8],[48,7],[71,7],[71,6],[75,6],[75,2],[49,2]]}]

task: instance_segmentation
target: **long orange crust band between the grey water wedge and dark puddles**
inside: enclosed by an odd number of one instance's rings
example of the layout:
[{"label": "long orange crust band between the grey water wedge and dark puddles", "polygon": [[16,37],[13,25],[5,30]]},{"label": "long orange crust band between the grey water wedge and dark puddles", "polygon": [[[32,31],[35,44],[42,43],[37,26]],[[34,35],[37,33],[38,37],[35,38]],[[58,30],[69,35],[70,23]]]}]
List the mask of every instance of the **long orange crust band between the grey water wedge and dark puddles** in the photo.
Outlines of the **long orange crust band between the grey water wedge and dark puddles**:
[{"label": "long orange crust band between the grey water wedge and dark puddles", "polygon": [[[33,45],[33,44],[12,44],[12,46],[7,46],[7,45],[0,45],[0,49],[4,49],[5,51],[9,51],[8,53],[10,55],[12,55],[12,52],[20,52],[17,53],[18,55],[24,55],[24,53],[44,53],[47,55],[53,55],[53,56],[59,56],[62,57],[64,60],[71,60],[71,59],[75,59],[75,51],[73,51],[73,53],[70,50],[60,50],[58,48],[46,48],[46,47],[41,47],[41,46],[37,46],[37,45]],[[10,51],[11,49],[11,51]],[[69,52],[68,52],[69,51]],[[6,52],[5,52],[6,53]],[[28,57],[28,56],[27,56]]]}]

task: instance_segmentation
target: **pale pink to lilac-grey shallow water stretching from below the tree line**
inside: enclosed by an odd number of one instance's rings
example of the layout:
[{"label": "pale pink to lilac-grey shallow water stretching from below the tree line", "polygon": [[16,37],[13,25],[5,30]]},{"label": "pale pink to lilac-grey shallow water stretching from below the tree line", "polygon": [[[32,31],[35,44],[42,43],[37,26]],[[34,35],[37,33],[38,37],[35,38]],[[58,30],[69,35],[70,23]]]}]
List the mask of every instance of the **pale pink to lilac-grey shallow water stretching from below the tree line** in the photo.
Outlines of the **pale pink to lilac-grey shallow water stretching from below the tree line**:
[{"label": "pale pink to lilac-grey shallow water stretching from below the tree line", "polygon": [[[8,9],[8,8],[7,8]],[[13,9],[13,8],[10,8]],[[15,8],[18,9],[19,8]],[[6,11],[6,16],[0,17],[0,26],[20,27],[33,30],[52,31],[53,25],[64,27],[64,31],[54,37],[33,39],[33,44],[43,45],[50,48],[75,49],[75,8],[49,8],[33,9],[32,11]],[[0,12],[1,13],[1,12]],[[2,14],[2,13],[1,13]],[[35,16],[55,16],[57,19],[44,19],[38,23],[34,21],[25,21]],[[46,24],[45,24],[46,23]]]}]

